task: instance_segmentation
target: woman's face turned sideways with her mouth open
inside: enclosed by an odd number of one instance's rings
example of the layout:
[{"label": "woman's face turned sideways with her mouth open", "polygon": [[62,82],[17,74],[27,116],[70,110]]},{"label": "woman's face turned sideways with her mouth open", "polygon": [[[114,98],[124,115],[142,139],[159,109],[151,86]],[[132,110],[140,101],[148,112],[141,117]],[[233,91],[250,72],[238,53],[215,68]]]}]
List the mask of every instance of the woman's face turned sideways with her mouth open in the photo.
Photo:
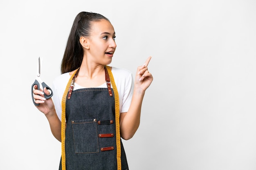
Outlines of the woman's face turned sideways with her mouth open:
[{"label": "woman's face turned sideways with her mouth open", "polygon": [[115,43],[115,30],[107,20],[92,22],[90,49],[87,51],[96,64],[108,65],[112,61],[117,47]]}]

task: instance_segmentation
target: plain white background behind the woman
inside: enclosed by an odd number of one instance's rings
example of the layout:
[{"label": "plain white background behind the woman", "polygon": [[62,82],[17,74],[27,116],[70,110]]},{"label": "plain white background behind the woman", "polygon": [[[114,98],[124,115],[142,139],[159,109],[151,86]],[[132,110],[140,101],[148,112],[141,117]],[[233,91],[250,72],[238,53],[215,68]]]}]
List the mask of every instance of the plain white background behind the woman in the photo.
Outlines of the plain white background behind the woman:
[{"label": "plain white background behind the woman", "polygon": [[81,11],[112,22],[111,65],[153,58],[130,170],[256,170],[255,0],[0,1],[0,169],[56,170],[61,143],[31,101],[51,85]]}]

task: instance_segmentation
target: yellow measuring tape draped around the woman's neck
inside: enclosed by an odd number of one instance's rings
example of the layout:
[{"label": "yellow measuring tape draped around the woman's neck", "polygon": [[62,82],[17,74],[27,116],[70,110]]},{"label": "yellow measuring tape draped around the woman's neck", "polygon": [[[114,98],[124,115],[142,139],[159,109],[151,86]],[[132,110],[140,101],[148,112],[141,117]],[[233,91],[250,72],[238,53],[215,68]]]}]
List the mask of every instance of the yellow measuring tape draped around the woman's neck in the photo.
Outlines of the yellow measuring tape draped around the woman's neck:
[{"label": "yellow measuring tape draped around the woman's neck", "polygon": [[[119,96],[117,92],[117,87],[115,84],[115,80],[113,77],[113,74],[111,72],[111,68],[106,65],[106,68],[108,70],[110,82],[112,83],[114,95],[115,95],[115,121],[116,121],[116,143],[117,143],[117,170],[121,170],[121,142],[120,142],[120,124],[119,124]],[[66,170],[66,155],[65,155],[65,130],[66,130],[66,99],[67,99],[67,93],[69,91],[72,78],[74,77],[76,71],[74,71],[74,74],[70,77],[70,80],[67,83],[65,92],[62,97],[61,107],[62,107],[62,114],[61,114],[61,166],[62,170]]]}]

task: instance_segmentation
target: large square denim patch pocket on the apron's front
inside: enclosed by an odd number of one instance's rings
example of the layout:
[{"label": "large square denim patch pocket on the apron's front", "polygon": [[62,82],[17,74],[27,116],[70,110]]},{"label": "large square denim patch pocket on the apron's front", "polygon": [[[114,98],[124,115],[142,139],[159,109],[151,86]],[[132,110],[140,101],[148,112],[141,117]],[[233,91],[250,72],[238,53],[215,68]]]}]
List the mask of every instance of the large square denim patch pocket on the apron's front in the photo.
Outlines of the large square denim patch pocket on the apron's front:
[{"label": "large square denim patch pocket on the apron's front", "polygon": [[98,153],[97,120],[72,120],[75,153]]}]

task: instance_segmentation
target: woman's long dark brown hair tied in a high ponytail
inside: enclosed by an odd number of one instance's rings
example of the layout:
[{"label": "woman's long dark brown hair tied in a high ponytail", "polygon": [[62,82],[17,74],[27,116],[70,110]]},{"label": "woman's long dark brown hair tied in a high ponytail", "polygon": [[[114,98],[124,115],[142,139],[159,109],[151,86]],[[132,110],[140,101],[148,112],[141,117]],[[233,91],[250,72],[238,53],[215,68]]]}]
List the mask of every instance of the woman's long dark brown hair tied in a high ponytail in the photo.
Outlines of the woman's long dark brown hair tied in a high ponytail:
[{"label": "woman's long dark brown hair tied in a high ponytail", "polygon": [[[61,62],[61,74],[71,72],[81,66],[83,48],[80,37],[89,37],[93,21],[108,20],[99,13],[80,12],[76,15]],[[108,20],[109,21],[109,20]]]}]

